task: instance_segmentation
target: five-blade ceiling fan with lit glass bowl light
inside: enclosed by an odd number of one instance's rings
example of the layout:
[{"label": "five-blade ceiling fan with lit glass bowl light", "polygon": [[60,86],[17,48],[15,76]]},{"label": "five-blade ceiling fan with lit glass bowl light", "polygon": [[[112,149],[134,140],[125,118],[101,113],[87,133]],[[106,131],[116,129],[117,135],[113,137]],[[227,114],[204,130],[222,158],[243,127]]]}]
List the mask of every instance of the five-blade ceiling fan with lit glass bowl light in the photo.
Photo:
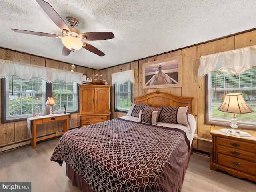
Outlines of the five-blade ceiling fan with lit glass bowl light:
[{"label": "five-blade ceiling fan with lit glass bowl light", "polygon": [[68,27],[67,24],[62,20],[62,18],[58,15],[58,13],[52,8],[52,6],[48,2],[45,2],[44,0],[36,0],[36,2],[42,7],[44,12],[46,12],[46,14],[52,19],[52,21],[62,30],[62,36],[35,31],[12,29],[14,32],[39,35],[45,37],[61,38],[61,41],[64,45],[62,49],[62,55],[65,56],[69,55],[71,51],[79,50],[82,47],[99,56],[105,55],[96,47],[84,42],[84,40],[96,41],[112,39],[115,38],[112,32],[81,33],[78,29],[74,28],[75,26],[78,26],[78,20],[72,17],[67,17],[66,22],[70,24],[70,27]]}]

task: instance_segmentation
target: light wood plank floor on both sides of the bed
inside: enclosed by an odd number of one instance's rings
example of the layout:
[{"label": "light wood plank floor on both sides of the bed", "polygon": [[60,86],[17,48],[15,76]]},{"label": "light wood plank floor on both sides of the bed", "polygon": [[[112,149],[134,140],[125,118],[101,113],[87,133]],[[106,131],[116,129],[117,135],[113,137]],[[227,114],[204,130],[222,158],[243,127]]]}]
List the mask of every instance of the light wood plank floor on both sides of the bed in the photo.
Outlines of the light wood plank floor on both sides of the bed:
[{"label": "light wood plank floor on both sides of the bed", "polygon": [[[32,182],[32,192],[80,192],[66,177],[65,164],[50,161],[60,138],[0,154],[0,181]],[[192,154],[182,192],[254,192],[256,182],[210,170],[210,157]]]}]

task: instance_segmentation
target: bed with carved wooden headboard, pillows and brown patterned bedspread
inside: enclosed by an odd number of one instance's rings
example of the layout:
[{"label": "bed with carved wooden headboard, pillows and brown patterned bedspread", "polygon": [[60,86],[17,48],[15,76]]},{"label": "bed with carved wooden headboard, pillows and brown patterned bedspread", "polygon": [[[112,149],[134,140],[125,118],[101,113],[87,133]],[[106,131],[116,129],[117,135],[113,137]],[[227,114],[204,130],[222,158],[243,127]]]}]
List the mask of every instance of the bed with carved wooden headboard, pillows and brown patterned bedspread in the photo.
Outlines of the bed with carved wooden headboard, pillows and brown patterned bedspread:
[{"label": "bed with carved wooden headboard, pillows and brown patterned bedspread", "polygon": [[50,160],[82,192],[179,192],[196,130],[192,97],[154,91],[126,116],[65,133]]}]

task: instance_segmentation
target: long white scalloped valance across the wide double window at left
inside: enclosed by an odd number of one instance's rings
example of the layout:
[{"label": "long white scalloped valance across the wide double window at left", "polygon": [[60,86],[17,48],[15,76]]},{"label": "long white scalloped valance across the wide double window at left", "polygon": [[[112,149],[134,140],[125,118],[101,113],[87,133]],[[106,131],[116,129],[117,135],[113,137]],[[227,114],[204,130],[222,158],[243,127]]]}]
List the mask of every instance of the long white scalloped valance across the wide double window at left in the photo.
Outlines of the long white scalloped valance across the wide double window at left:
[{"label": "long white scalloped valance across the wide double window at left", "polygon": [[0,59],[0,78],[7,75],[15,75],[23,80],[30,80],[35,77],[46,82],[62,80],[66,83],[78,82],[79,84],[83,76],[82,73],[74,72],[74,74],[71,74],[70,71]]}]

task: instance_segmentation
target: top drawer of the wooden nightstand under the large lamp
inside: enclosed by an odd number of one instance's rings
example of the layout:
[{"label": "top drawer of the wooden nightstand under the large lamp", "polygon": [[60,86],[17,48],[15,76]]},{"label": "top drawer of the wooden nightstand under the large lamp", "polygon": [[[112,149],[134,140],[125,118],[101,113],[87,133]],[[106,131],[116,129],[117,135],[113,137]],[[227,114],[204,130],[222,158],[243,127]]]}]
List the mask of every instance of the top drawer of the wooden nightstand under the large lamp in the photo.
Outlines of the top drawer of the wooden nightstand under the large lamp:
[{"label": "top drawer of the wooden nightstand under the large lamp", "polygon": [[231,147],[234,149],[240,149],[240,150],[245,150],[249,152],[256,152],[256,145],[253,143],[248,143],[248,142],[242,142],[238,140],[232,140],[232,139],[227,139],[227,138],[222,138],[222,137],[217,137],[216,138],[217,145],[222,145],[222,146],[227,146]]}]

